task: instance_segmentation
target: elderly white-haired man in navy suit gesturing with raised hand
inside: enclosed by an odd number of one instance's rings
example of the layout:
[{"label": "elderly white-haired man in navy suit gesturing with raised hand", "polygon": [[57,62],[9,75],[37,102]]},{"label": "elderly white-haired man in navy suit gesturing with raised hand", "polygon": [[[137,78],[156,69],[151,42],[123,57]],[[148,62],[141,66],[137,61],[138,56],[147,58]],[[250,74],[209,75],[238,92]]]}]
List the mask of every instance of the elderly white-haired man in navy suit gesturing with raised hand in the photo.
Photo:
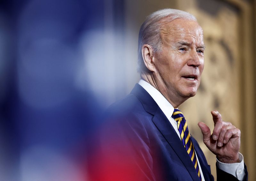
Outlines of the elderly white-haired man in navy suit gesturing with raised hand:
[{"label": "elderly white-haired man in navy suit gesturing with raised hand", "polygon": [[[196,95],[204,69],[203,30],[180,10],[152,13],[139,34],[141,80],[108,109],[99,133],[92,179],[214,180],[178,107]],[[212,111],[214,130],[199,122],[204,144],[217,157],[217,180],[247,180],[240,130]],[[95,160],[96,159],[96,160]],[[97,170],[97,171],[95,171]]]}]

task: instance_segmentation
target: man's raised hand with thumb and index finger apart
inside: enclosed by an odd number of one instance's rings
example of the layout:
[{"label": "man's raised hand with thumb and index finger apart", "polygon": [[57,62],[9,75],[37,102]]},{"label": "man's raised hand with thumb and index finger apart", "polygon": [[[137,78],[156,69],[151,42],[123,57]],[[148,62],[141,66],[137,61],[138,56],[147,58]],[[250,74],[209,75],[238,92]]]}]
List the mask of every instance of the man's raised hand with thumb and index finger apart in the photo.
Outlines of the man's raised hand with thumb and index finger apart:
[{"label": "man's raised hand with thumb and index finger apart", "polygon": [[212,135],[210,128],[206,124],[203,122],[198,123],[203,133],[204,144],[217,156],[220,162],[239,162],[240,130],[230,122],[222,121],[221,114],[218,111],[212,111],[211,113],[214,122]]}]

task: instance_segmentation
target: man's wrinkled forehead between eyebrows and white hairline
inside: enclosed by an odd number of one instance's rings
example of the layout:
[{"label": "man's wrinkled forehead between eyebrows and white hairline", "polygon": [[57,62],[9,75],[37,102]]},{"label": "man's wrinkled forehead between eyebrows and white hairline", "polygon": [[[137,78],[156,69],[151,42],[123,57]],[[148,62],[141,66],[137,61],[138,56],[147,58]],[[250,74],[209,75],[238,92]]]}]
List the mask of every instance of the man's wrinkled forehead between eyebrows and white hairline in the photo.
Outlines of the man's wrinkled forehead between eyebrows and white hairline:
[{"label": "man's wrinkled forehead between eyebrows and white hairline", "polygon": [[161,27],[161,37],[166,43],[186,40],[203,44],[203,29],[196,21],[176,19]]}]

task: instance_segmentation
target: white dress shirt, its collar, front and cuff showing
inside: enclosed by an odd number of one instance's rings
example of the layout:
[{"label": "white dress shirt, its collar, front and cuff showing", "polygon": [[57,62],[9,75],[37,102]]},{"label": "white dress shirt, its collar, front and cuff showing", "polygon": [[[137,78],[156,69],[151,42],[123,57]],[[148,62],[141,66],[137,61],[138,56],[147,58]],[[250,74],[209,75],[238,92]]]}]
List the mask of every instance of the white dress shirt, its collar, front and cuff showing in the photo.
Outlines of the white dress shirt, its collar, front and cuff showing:
[{"label": "white dress shirt, its collar, front and cuff showing", "polygon": [[[164,115],[167,117],[169,122],[172,124],[174,130],[176,131],[177,135],[180,137],[180,132],[178,130],[177,122],[172,118],[172,113],[174,111],[174,107],[171,105],[171,103],[152,85],[150,85],[148,82],[144,80],[140,80],[139,84],[149,93],[149,95],[156,101],[156,104],[160,107],[160,109],[163,111]],[[196,152],[195,152],[196,153]],[[202,177],[202,180],[204,180],[204,175],[202,173],[202,169],[200,166],[200,162],[198,161],[198,158],[196,156],[197,163],[200,169],[200,174]],[[218,167],[229,173],[232,174],[234,177],[236,177],[238,180],[242,181],[244,179],[244,158],[241,153],[239,153],[239,159],[240,163],[222,163],[217,160]]]}]

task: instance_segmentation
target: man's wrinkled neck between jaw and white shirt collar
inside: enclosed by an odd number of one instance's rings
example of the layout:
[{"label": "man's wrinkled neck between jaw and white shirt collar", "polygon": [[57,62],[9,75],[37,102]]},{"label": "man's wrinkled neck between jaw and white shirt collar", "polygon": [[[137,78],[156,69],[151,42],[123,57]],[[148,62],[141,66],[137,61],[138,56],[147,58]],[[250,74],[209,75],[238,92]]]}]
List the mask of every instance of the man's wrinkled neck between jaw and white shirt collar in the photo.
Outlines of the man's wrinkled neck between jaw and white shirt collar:
[{"label": "man's wrinkled neck between jaw and white shirt collar", "polygon": [[150,85],[152,85],[156,90],[158,90],[174,107],[179,107],[185,100],[188,98],[181,97],[179,95],[173,94],[171,91],[168,90],[167,86],[165,85],[164,81],[161,77],[154,76],[153,73],[141,73],[140,77],[148,82]]}]

